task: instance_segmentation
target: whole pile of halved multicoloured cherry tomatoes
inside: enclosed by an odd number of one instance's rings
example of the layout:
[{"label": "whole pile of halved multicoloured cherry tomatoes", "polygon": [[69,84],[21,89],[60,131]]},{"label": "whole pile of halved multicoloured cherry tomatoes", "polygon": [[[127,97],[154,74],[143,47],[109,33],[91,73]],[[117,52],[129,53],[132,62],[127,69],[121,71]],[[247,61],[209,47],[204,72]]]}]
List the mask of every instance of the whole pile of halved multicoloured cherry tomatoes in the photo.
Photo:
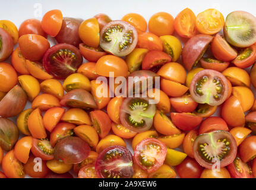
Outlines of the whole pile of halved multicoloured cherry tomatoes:
[{"label": "whole pile of halved multicoloured cherry tomatoes", "polygon": [[244,11],[0,20],[0,178],[254,178],[255,61]]}]

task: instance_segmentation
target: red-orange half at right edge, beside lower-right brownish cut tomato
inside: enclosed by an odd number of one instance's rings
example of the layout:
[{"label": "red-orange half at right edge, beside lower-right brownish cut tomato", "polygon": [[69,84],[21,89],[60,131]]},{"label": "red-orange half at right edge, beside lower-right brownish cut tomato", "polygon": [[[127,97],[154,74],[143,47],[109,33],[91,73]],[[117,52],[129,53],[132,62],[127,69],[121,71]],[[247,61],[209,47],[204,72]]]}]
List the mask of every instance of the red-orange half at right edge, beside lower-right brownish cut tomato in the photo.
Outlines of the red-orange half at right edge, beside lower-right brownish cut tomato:
[{"label": "red-orange half at right edge, beside lower-right brownish cut tomato", "polygon": [[256,136],[245,138],[239,145],[239,155],[243,162],[247,163],[256,156]]}]

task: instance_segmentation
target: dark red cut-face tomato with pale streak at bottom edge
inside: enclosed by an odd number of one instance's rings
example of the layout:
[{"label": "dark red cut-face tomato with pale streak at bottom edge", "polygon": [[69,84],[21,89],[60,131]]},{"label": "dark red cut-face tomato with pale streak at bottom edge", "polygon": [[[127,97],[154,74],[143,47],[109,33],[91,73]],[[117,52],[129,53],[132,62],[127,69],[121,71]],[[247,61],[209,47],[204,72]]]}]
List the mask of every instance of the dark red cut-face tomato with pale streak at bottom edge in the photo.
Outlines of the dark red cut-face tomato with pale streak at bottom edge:
[{"label": "dark red cut-face tomato with pale streak at bottom edge", "polygon": [[98,178],[131,178],[132,154],[121,146],[106,148],[97,157],[95,169]]}]

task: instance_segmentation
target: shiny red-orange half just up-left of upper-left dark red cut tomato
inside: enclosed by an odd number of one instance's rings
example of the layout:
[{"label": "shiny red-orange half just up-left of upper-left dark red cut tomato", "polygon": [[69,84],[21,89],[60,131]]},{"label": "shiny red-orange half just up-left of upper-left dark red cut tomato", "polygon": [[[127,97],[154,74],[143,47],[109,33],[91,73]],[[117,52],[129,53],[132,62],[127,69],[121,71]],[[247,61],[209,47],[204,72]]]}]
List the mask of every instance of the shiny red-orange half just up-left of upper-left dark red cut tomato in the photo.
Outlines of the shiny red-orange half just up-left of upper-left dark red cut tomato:
[{"label": "shiny red-orange half just up-left of upper-left dark red cut tomato", "polygon": [[18,39],[18,44],[21,54],[30,61],[40,61],[50,47],[48,40],[38,34],[24,34]]}]

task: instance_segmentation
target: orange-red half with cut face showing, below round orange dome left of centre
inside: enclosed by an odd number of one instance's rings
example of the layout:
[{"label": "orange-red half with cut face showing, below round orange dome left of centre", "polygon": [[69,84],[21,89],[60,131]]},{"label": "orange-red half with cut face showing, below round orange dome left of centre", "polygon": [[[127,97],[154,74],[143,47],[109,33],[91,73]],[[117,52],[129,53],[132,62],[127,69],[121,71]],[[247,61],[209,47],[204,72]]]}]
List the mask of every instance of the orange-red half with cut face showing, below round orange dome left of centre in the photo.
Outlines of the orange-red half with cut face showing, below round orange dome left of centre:
[{"label": "orange-red half with cut face showing, below round orange dome left of centre", "polygon": [[[107,106],[111,99],[109,97],[108,83],[97,84],[96,80],[92,80],[90,84],[91,84],[91,94],[94,97],[94,100],[96,102],[98,109],[102,109],[103,107]],[[103,95],[102,97],[100,97],[99,89],[102,89],[100,90],[101,94],[104,93],[103,91],[104,89],[108,89],[108,91],[106,91],[106,94],[105,94],[106,96]]]}]

